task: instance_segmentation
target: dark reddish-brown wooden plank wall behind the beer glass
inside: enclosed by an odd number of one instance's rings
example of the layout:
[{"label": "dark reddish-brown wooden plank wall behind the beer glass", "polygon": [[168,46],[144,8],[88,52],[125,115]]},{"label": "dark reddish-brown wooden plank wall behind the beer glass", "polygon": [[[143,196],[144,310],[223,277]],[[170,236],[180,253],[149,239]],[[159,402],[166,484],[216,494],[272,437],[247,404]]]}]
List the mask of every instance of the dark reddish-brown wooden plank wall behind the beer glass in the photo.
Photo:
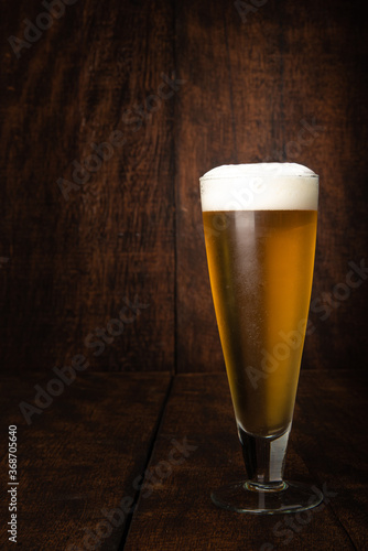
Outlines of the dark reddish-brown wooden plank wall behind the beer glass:
[{"label": "dark reddish-brown wooden plank wall behind the beer glass", "polygon": [[[346,288],[367,239],[362,1],[68,0],[51,19],[40,1],[1,6],[4,370],[77,354],[91,370],[221,370],[198,177],[264,160],[321,175],[304,367],[365,367],[368,282]],[[86,338],[119,333],[125,298],[149,306],[95,356]]]}]

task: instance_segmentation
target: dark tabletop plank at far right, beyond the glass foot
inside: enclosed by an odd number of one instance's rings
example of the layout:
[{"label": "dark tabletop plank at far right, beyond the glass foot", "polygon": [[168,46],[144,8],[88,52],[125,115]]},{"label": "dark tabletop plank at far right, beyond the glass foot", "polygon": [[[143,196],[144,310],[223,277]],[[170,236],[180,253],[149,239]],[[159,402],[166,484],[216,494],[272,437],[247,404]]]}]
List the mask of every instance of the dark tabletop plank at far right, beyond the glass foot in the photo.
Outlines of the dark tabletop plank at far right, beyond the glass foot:
[{"label": "dark tabletop plank at far right, beyond the glass foot", "polygon": [[294,423],[294,445],[336,494],[331,507],[356,549],[368,545],[367,396],[364,371],[303,372]]}]

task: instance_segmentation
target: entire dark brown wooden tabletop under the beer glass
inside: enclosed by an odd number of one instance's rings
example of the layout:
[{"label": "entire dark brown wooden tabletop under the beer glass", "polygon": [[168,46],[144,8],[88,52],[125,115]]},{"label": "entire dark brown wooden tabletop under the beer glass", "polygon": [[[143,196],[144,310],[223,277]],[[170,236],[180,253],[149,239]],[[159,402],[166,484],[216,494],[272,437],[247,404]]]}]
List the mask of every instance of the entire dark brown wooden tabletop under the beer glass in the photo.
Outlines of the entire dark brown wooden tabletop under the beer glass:
[{"label": "entire dark brown wooden tabletop under the beer glass", "polygon": [[[285,478],[314,483],[325,501],[268,517],[217,509],[209,498],[245,477],[225,374],[79,374],[47,407],[40,398],[26,424],[19,403],[35,406],[34,385],[48,382],[2,379],[3,439],[17,425],[22,549],[368,548],[362,371],[302,371]],[[8,501],[1,515],[4,527]],[[0,545],[12,549],[6,530]]]}]

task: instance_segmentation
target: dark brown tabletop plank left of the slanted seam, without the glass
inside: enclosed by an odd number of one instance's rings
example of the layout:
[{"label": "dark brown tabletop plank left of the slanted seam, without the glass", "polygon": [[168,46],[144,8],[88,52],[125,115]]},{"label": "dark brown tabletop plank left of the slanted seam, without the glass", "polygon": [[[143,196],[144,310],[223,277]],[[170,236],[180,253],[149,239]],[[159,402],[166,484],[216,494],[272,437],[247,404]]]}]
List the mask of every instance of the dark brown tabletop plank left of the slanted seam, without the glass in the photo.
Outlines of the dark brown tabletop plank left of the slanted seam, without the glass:
[{"label": "dark brown tabletop plank left of the slanted seam, without the glass", "polygon": [[[33,403],[35,381],[46,388],[44,376],[9,377],[1,383],[2,488],[8,487],[8,426],[18,426],[18,541],[30,550],[99,544],[98,549],[117,550],[137,495],[133,480],[144,471],[170,376],[79,374],[28,425],[19,402]],[[110,517],[120,507],[126,512]],[[9,520],[3,499],[2,549],[10,549],[3,529]]]}]

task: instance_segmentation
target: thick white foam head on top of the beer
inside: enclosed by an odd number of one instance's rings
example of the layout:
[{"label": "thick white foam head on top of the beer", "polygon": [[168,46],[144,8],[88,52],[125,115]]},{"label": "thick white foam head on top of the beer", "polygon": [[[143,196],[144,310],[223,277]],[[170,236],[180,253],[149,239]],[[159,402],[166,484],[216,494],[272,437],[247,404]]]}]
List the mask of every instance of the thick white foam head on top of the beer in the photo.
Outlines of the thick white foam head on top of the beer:
[{"label": "thick white foam head on top of the beer", "polygon": [[202,210],[316,210],[318,176],[296,163],[225,164],[199,179]]}]

